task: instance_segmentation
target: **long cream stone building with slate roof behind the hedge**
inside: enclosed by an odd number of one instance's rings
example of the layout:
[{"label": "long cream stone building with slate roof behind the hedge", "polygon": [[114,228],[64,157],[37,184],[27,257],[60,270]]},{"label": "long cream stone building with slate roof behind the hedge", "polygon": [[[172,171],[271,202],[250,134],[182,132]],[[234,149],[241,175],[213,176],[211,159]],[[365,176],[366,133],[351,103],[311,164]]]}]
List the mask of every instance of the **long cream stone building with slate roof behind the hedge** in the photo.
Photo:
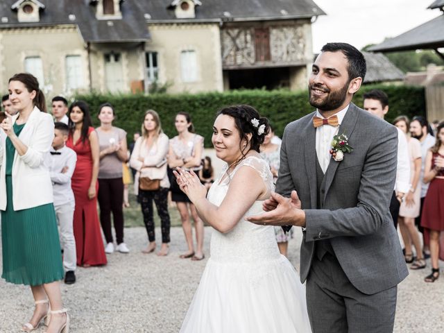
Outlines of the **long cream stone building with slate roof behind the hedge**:
[{"label": "long cream stone building with slate roof behind the hedge", "polygon": [[2,0],[0,91],[19,71],[47,94],[305,88],[311,0]]}]

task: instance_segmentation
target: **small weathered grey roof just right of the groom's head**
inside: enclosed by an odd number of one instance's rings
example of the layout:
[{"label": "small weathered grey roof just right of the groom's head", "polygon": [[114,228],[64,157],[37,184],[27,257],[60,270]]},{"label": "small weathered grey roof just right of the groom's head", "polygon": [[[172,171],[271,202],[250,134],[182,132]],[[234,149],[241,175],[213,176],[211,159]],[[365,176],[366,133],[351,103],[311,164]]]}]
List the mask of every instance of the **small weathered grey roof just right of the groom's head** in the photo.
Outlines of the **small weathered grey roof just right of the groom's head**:
[{"label": "small weathered grey roof just right of the groom's head", "polygon": [[404,80],[404,73],[382,53],[363,52],[367,63],[364,83]]}]

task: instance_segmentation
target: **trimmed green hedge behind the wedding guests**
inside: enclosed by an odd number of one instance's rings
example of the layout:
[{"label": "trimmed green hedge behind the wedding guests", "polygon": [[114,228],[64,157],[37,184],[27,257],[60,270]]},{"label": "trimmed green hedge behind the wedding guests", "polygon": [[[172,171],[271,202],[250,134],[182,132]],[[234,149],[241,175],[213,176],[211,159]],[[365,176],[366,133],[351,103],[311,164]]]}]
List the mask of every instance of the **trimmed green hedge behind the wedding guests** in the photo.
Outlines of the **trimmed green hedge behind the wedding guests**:
[{"label": "trimmed green hedge behind the wedding guests", "polygon": [[[400,114],[408,117],[425,115],[425,92],[422,87],[404,85],[366,85],[355,94],[354,103],[362,107],[362,94],[370,89],[382,89],[390,99],[390,109],[386,116],[392,121]],[[205,137],[205,146],[211,147],[212,123],[216,111],[226,105],[248,104],[256,108],[262,117],[267,117],[275,127],[275,133],[282,135],[287,123],[298,119],[314,108],[308,103],[308,92],[289,92],[285,90],[239,90],[232,92],[213,92],[201,94],[89,94],[78,95],[91,108],[95,126],[99,125],[96,114],[101,103],[109,102],[114,106],[117,119],[114,126],[128,132],[132,141],[133,133],[140,131],[144,112],[156,110],[160,114],[164,132],[173,137],[176,135],[174,118],[177,112],[191,114],[196,133]]]}]

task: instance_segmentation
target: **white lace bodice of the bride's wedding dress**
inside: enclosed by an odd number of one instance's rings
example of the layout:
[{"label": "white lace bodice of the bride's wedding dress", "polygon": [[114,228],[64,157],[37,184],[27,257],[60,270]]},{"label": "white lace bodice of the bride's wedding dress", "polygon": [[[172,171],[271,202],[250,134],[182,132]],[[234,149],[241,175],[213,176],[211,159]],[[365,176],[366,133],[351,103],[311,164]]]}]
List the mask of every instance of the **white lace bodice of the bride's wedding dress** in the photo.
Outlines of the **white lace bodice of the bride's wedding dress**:
[{"label": "white lace bodice of the bride's wedding dress", "polygon": [[[234,174],[241,167],[251,167],[259,173],[268,189],[266,194],[266,198],[268,198],[270,192],[274,189],[273,175],[268,164],[262,157],[248,156],[237,165],[229,178],[225,178],[221,182],[228,169],[228,166],[225,166],[208,192],[208,199],[211,203],[217,206],[221,205],[230,186],[230,179],[234,177]],[[244,220],[245,216],[262,213],[262,202],[263,200],[256,200],[230,232],[223,234],[213,230],[210,245],[212,260],[216,262],[248,262],[262,265],[267,260],[280,258],[273,227],[256,225]]]}]

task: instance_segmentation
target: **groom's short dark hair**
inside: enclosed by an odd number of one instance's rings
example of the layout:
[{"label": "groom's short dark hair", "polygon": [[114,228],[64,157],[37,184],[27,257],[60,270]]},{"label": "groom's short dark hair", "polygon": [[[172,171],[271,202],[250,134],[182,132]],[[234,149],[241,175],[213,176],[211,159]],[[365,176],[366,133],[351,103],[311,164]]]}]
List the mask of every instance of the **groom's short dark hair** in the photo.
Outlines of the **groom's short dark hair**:
[{"label": "groom's short dark hair", "polygon": [[364,54],[361,53],[355,46],[347,43],[327,43],[322,46],[321,52],[337,52],[344,53],[348,60],[348,80],[361,77],[364,81],[366,76],[367,65]]}]

